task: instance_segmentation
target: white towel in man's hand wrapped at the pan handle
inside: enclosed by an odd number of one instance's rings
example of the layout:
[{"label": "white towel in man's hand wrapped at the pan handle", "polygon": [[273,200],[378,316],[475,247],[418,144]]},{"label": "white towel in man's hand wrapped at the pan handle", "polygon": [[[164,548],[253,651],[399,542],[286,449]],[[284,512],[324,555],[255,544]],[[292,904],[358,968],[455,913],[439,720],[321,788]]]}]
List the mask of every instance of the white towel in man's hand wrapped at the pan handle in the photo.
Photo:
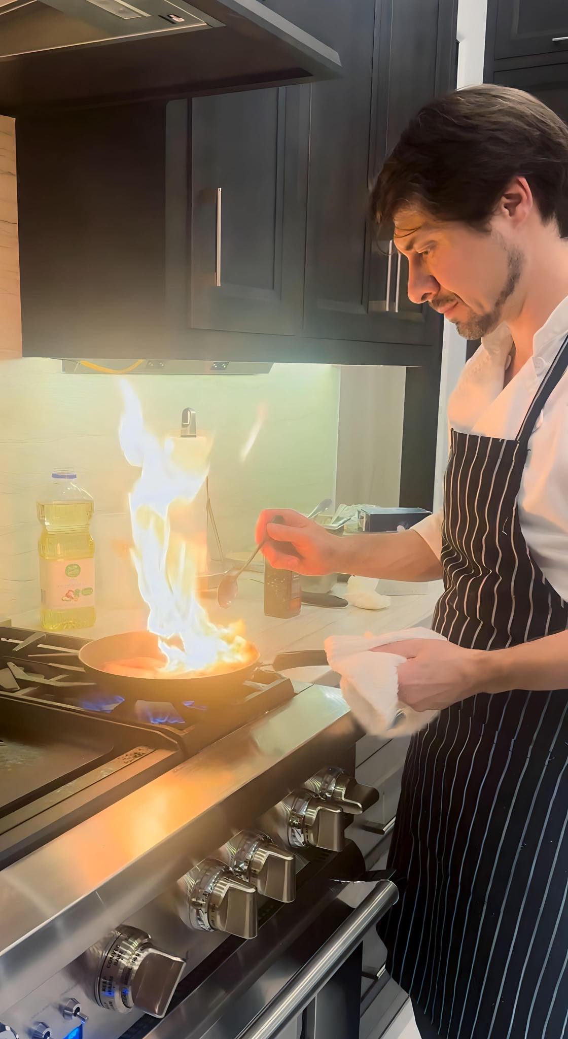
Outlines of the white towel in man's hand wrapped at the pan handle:
[{"label": "white towel in man's hand wrapped at the pan handle", "polygon": [[411,736],[424,728],[437,711],[414,711],[399,700],[397,668],[405,657],[372,652],[376,646],[410,639],[445,639],[428,628],[407,628],[388,635],[331,635],[325,640],[330,667],[341,674],[342,693],[357,721],[374,736]]}]

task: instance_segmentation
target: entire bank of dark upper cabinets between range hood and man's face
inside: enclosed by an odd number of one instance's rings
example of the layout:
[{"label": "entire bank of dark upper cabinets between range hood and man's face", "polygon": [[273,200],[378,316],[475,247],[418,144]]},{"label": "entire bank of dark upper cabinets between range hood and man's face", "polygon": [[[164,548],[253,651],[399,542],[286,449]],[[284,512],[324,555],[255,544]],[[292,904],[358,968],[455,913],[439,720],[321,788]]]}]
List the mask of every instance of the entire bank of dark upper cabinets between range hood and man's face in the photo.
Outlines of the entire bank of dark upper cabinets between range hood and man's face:
[{"label": "entire bank of dark upper cabinets between range hood and man's face", "polygon": [[25,353],[437,371],[440,321],[368,197],[452,84],[457,0],[267,6],[337,49],[342,78],[19,117]]}]

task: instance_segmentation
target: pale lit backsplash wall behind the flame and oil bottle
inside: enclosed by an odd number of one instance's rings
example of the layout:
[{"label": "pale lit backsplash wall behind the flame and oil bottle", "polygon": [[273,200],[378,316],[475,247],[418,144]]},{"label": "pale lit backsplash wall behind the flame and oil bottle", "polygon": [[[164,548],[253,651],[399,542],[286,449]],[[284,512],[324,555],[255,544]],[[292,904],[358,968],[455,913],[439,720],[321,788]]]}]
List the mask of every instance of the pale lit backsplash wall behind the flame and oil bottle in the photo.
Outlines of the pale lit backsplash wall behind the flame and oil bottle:
[{"label": "pale lit backsplash wall behind the flame and oil bottle", "polygon": [[[35,502],[53,468],[74,467],[93,496],[98,594],[103,605],[137,601],[125,551],[130,533],[127,495],[137,471],[118,444],[121,396],[105,375],[63,375],[40,358],[0,368],[0,616],[38,601]],[[211,494],[227,550],[254,542],[267,506],[312,509],[332,497],[337,450],[340,371],[328,365],[275,365],[256,376],[132,376],[147,424],[179,429],[191,406],[214,434]],[[239,454],[259,404],[267,418],[245,462]]]}]

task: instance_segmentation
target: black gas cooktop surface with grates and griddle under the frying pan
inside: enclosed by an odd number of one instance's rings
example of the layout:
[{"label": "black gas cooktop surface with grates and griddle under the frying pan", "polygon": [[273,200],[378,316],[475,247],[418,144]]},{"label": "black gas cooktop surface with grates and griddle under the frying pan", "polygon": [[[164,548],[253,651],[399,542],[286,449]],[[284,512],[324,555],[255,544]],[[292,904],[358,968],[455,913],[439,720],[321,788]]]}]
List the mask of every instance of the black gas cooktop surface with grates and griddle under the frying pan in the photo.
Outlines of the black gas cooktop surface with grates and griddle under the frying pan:
[{"label": "black gas cooktop surface with grates and griddle under the frying pan", "polygon": [[89,681],[83,644],[0,629],[0,867],[303,688],[259,668],[222,711],[127,702]]}]

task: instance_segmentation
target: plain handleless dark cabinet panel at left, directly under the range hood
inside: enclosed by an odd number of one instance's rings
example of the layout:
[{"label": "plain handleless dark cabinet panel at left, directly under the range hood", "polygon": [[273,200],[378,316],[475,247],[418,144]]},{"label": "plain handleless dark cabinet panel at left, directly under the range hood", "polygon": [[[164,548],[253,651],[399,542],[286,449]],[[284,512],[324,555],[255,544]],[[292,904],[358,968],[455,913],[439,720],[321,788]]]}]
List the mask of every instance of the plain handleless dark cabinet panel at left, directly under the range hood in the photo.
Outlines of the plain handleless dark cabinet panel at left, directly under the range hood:
[{"label": "plain handleless dark cabinet panel at left, directly under the range hood", "polygon": [[150,102],[17,119],[25,354],[166,352],[165,114]]}]

